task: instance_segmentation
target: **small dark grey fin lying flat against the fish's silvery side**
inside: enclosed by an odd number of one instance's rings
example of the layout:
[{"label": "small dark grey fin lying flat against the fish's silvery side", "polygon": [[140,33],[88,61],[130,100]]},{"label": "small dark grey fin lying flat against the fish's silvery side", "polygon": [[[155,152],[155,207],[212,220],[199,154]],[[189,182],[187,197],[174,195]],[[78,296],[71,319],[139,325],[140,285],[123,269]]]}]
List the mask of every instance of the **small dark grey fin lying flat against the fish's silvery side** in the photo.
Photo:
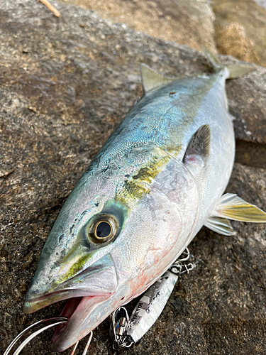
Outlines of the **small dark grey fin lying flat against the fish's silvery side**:
[{"label": "small dark grey fin lying flat against the fish's silvery side", "polygon": [[184,153],[183,163],[191,163],[200,160],[203,164],[209,157],[211,143],[211,130],[209,124],[204,124],[194,133],[187,151]]}]

